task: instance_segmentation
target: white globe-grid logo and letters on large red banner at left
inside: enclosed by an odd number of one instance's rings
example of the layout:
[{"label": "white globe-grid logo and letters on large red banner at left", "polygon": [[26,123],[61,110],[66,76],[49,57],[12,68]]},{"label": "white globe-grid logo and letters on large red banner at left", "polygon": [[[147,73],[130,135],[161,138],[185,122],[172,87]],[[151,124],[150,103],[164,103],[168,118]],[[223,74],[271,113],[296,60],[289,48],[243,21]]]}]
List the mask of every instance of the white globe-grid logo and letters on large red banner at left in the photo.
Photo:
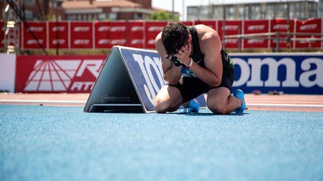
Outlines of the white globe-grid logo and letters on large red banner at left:
[{"label": "white globe-grid logo and letters on large red banner at left", "polygon": [[89,91],[93,81],[75,81],[87,69],[97,78],[102,67],[102,59],[93,60],[37,60],[30,73],[24,91]]}]

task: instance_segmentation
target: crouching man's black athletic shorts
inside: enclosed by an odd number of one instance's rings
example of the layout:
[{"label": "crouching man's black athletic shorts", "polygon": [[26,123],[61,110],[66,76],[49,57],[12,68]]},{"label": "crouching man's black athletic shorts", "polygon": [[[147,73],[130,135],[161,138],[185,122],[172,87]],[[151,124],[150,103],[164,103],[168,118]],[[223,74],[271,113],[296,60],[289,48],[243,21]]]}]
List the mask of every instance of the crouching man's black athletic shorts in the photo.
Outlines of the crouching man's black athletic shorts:
[{"label": "crouching man's black athletic shorts", "polygon": [[224,68],[222,74],[221,84],[217,87],[209,86],[204,83],[202,80],[196,77],[183,77],[183,83],[178,82],[175,86],[181,92],[183,97],[183,103],[190,101],[203,93],[207,93],[210,89],[219,88],[219,87],[227,87],[231,91],[232,84],[234,81],[234,68]]}]

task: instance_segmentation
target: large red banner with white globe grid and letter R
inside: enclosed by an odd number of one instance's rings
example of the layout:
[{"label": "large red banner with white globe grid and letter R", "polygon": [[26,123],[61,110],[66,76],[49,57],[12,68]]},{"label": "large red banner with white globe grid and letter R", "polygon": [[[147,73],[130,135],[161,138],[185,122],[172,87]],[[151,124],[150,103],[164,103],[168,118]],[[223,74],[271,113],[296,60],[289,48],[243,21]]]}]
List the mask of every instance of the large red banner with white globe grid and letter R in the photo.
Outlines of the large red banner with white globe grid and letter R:
[{"label": "large red banner with white globe grid and letter R", "polygon": [[90,93],[105,55],[17,56],[16,92]]}]

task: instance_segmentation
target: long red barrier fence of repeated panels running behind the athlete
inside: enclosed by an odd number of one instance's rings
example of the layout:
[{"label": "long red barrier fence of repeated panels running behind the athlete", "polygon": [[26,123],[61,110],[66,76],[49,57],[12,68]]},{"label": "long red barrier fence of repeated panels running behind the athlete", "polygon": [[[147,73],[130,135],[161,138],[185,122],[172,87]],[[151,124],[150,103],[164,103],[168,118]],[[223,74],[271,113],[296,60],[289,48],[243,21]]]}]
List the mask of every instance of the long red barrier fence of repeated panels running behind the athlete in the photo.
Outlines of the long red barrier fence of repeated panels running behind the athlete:
[{"label": "long red barrier fence of repeated panels running behind the athlete", "polygon": [[[222,39],[222,20],[196,20],[183,22],[191,26],[205,24],[219,33]],[[45,49],[80,49],[80,48],[112,48],[114,45],[123,45],[136,48],[155,48],[154,39],[163,30],[167,21],[62,21],[62,22],[28,22],[39,43]],[[0,22],[0,48],[4,47],[4,22]],[[40,48],[26,27],[20,24],[21,49]],[[323,19],[309,19],[300,21],[293,19],[288,25],[285,19],[276,20],[227,20],[225,35],[254,34],[254,33],[317,33],[315,35],[291,35],[289,47],[298,48],[323,48],[323,41],[308,41],[305,38],[322,38]],[[268,38],[274,38],[268,35]],[[287,35],[282,35],[287,37]],[[295,41],[297,38],[299,41]],[[303,38],[303,40],[302,40]],[[248,48],[276,48],[277,40],[244,39],[242,49]],[[226,48],[238,48],[238,39],[225,40]],[[287,41],[279,41],[280,48],[287,48]]]}]

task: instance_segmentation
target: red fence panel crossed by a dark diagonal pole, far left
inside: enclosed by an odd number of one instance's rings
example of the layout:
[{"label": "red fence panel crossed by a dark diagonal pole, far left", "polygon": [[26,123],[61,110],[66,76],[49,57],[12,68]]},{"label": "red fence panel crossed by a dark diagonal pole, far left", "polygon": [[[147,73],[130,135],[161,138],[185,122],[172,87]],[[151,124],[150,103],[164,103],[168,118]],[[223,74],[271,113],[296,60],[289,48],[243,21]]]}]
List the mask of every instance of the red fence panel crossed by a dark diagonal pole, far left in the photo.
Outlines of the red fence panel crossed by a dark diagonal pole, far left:
[{"label": "red fence panel crossed by a dark diagonal pole, far left", "polygon": [[[28,26],[30,30],[33,32],[33,34],[36,36],[39,44],[42,46],[42,48],[47,48],[47,29],[46,29],[46,23],[45,22],[28,22]],[[27,27],[22,24],[23,27],[23,45],[22,48],[25,49],[32,49],[32,48],[41,48],[41,46],[38,45],[37,40],[32,36],[32,34],[28,31]]]}]

